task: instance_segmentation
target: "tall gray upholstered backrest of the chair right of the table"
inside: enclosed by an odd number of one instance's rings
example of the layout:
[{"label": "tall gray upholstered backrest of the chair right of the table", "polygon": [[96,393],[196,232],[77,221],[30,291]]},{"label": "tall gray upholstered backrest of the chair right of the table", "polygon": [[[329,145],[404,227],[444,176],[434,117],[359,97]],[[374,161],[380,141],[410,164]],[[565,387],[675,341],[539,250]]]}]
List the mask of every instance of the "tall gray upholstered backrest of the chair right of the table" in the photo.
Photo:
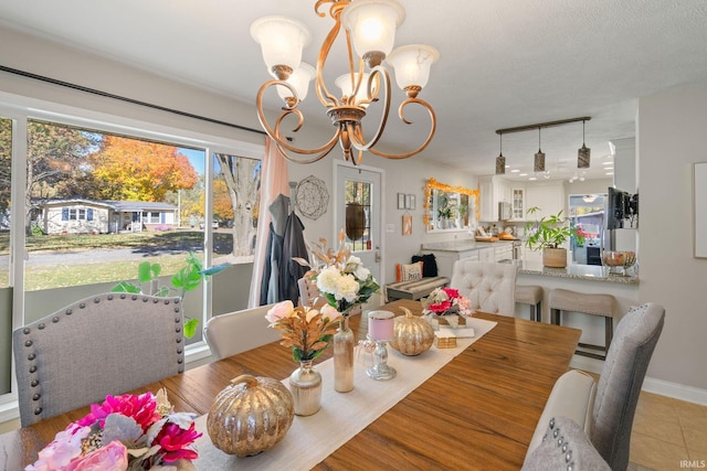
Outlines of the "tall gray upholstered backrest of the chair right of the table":
[{"label": "tall gray upholstered backrest of the chair right of the table", "polygon": [[589,437],[612,470],[629,465],[639,394],[664,322],[665,309],[659,304],[650,302],[630,309],[606,353]]}]

